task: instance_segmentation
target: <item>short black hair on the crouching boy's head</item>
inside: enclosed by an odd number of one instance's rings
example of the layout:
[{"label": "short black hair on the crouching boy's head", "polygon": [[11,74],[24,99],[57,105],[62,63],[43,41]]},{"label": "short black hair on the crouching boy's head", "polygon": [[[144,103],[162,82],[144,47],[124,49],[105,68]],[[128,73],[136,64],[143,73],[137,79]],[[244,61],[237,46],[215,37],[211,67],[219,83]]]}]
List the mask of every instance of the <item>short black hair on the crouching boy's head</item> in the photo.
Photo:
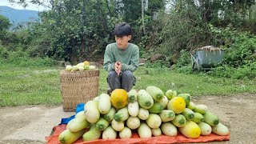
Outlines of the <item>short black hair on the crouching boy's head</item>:
[{"label": "short black hair on the crouching boy's head", "polygon": [[122,38],[123,36],[131,35],[131,27],[126,22],[120,23],[114,28],[114,35],[118,38]]}]

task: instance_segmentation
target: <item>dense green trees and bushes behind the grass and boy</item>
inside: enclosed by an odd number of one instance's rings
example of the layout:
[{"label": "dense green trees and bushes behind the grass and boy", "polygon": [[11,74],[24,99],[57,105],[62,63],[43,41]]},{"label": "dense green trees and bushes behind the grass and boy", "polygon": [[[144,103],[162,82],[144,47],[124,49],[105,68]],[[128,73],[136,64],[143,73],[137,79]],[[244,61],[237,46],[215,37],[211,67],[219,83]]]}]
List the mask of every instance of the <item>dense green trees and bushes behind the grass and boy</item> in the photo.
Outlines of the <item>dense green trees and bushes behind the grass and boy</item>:
[{"label": "dense green trees and bushes behind the grass and boy", "polygon": [[[39,0],[10,2],[44,4]],[[8,19],[0,16],[0,58],[14,63],[31,58],[52,59],[52,63],[102,62],[106,45],[114,42],[114,26],[128,22],[133,29],[130,42],[139,46],[147,67],[194,74],[189,69],[190,53],[213,45],[226,49],[224,63],[206,74],[255,78],[249,73],[256,55],[254,0],[149,0],[148,4],[142,19],[141,1],[54,0],[38,22],[13,30]],[[161,57],[151,60],[156,54]]]}]

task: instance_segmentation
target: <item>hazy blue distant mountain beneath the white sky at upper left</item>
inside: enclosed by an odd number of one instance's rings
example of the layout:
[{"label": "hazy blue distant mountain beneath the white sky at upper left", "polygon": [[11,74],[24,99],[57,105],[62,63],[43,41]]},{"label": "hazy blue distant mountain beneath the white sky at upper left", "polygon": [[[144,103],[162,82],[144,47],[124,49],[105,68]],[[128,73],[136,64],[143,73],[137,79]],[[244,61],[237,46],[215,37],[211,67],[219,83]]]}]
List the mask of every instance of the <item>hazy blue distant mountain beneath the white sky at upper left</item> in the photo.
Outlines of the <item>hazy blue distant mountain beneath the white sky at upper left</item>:
[{"label": "hazy blue distant mountain beneath the white sky at upper left", "polygon": [[9,6],[0,6],[0,15],[9,18],[14,26],[17,26],[18,23],[26,25],[27,22],[34,22],[38,19],[36,10],[17,10]]}]

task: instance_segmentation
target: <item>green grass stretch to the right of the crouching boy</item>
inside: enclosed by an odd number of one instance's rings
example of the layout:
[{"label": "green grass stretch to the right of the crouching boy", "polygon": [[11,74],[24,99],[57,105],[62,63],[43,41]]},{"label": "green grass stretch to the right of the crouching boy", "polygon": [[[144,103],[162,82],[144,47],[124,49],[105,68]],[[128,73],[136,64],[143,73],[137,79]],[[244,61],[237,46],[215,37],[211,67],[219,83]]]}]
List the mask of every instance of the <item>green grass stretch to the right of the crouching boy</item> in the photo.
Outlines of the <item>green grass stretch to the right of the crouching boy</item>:
[{"label": "green grass stretch to the right of the crouching boy", "polygon": [[169,69],[148,69],[145,67],[140,67],[135,74],[138,77],[138,82],[134,89],[138,90],[154,85],[163,91],[171,89],[178,93],[189,93],[192,96],[256,92],[254,80],[216,78],[206,74],[183,74]]}]

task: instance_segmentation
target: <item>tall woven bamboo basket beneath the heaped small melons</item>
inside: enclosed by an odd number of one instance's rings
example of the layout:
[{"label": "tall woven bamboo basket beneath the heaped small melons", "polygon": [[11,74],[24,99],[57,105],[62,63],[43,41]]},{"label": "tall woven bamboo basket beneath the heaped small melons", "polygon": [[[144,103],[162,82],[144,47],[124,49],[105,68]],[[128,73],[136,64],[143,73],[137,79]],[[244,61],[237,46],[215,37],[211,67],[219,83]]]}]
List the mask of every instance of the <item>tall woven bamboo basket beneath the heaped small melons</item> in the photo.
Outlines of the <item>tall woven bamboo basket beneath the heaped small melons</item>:
[{"label": "tall woven bamboo basket beneath the heaped small melons", "polygon": [[60,72],[63,111],[75,111],[78,103],[98,96],[99,70]]}]

